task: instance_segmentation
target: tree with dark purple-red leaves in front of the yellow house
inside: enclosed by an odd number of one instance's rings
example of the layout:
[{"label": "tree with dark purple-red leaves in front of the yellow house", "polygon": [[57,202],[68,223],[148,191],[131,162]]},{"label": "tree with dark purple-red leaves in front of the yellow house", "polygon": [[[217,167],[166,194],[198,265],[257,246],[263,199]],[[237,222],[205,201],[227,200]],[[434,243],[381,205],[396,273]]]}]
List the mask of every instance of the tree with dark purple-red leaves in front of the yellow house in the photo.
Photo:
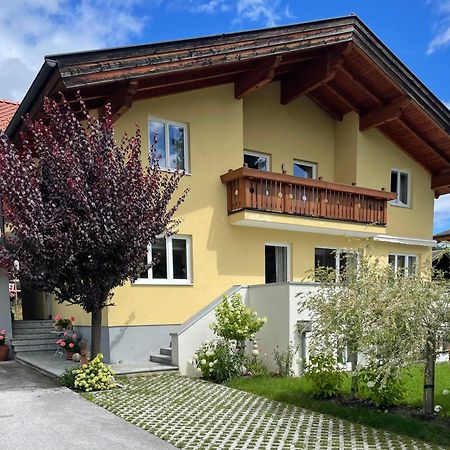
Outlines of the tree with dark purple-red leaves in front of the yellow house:
[{"label": "tree with dark purple-red leaves in front of the yellow house", "polygon": [[111,110],[97,119],[82,99],[45,99],[45,120],[25,120],[17,146],[0,134],[0,196],[10,237],[0,259],[20,262],[24,285],[92,315],[91,353],[100,351],[102,310],[113,289],[146,270],[149,243],[176,231],[182,173],[159,169],[158,136],[141,159],[139,129],[114,138]]}]

